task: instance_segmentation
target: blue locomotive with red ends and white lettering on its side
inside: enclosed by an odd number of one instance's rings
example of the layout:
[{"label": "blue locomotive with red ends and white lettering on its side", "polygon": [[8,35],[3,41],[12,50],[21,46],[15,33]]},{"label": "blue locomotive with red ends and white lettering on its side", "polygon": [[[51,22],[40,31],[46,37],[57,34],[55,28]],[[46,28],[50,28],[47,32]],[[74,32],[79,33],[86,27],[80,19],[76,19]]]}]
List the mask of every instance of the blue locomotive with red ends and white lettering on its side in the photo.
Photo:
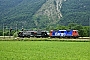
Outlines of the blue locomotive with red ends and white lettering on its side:
[{"label": "blue locomotive with red ends and white lettering on its side", "polygon": [[51,30],[50,37],[79,37],[78,30]]}]

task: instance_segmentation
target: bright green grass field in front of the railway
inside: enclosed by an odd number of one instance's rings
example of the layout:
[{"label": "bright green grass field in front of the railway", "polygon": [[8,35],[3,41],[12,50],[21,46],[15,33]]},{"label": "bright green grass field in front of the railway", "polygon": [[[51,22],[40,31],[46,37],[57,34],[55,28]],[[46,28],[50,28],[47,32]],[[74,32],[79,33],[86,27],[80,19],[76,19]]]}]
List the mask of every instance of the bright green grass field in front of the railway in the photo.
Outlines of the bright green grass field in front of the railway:
[{"label": "bright green grass field in front of the railway", "polygon": [[0,60],[90,60],[90,42],[0,41]]}]

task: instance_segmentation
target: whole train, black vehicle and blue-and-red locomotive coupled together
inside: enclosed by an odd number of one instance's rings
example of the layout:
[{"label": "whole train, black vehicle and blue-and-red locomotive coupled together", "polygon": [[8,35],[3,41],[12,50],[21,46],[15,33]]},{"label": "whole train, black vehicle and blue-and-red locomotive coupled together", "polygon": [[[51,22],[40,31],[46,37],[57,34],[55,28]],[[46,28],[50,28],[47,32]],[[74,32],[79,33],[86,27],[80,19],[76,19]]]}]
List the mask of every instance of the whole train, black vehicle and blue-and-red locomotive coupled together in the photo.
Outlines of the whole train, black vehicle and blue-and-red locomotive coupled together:
[{"label": "whole train, black vehicle and blue-and-red locomotive coupled together", "polygon": [[18,37],[51,37],[51,38],[78,38],[79,33],[78,30],[51,30],[49,31],[42,31],[42,30],[37,30],[37,31],[31,31],[31,30],[26,30],[26,31],[20,31],[18,33]]}]

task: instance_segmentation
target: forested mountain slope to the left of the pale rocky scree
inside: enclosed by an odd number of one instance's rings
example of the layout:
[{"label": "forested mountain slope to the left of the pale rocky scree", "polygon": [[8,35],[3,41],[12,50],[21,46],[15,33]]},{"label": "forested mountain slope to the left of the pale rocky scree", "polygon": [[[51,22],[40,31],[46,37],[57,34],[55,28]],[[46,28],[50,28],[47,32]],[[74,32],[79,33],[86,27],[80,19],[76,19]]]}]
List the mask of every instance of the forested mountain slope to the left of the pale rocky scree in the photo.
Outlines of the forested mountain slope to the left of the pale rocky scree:
[{"label": "forested mountain slope to the left of the pale rocky scree", "polygon": [[39,10],[45,0],[0,0],[0,28],[5,26],[18,28],[34,27],[32,16]]}]

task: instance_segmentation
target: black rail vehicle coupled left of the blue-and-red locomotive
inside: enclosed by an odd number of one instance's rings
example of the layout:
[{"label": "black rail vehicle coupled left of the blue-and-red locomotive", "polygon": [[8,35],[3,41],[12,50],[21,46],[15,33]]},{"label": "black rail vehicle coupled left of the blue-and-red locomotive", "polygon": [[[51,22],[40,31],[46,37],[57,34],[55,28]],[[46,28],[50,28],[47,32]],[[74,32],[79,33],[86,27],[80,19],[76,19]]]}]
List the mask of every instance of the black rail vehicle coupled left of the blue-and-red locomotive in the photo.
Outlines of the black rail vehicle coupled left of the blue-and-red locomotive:
[{"label": "black rail vehicle coupled left of the blue-and-red locomotive", "polygon": [[49,34],[48,34],[48,31],[41,31],[41,30],[38,30],[38,31],[20,31],[19,33],[18,33],[18,37],[28,37],[28,38],[30,38],[30,37],[37,37],[37,38],[39,38],[39,37],[49,37]]}]

